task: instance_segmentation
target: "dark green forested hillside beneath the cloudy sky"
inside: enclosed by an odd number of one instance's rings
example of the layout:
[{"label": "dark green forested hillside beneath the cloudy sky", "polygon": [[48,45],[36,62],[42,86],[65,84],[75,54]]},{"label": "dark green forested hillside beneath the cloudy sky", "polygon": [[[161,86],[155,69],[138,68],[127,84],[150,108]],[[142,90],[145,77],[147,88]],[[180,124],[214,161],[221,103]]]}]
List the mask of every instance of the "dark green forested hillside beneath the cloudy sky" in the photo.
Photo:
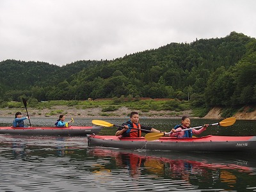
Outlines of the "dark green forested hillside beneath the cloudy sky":
[{"label": "dark green forested hillside beneath the cloudy sky", "polygon": [[177,98],[193,106],[256,102],[256,40],[224,38],[171,43],[111,61],[76,61],[63,67],[34,61],[0,62],[0,99],[85,100]]}]

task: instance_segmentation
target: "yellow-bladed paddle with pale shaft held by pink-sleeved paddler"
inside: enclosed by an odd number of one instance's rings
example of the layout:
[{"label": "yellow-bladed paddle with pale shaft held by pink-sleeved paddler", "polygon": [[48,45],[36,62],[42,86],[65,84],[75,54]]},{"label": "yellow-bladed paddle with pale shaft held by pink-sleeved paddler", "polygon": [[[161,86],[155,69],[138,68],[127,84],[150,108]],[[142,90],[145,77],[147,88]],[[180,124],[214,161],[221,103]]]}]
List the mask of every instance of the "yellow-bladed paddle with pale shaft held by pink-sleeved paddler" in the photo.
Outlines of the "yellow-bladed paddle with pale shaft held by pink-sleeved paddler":
[{"label": "yellow-bladed paddle with pale shaft held by pink-sleeved paddler", "polygon": [[[227,127],[227,126],[233,125],[235,122],[236,122],[236,118],[235,117],[230,117],[230,118],[226,118],[225,120],[222,120],[219,123],[211,124],[211,125],[208,125],[208,126],[221,125],[223,127]],[[182,129],[180,131],[187,131],[187,130],[190,130],[190,129],[198,129],[198,128],[202,128],[202,127],[204,127],[204,125],[198,126],[198,127],[192,127],[192,128],[189,128],[189,129]],[[177,131],[177,132],[180,132],[180,131]],[[145,134],[145,140],[147,140],[147,141],[158,140],[159,138],[163,137],[165,134],[170,134],[170,133],[172,133],[172,132],[166,132],[166,133],[164,133],[164,132],[150,132],[150,133]]]}]

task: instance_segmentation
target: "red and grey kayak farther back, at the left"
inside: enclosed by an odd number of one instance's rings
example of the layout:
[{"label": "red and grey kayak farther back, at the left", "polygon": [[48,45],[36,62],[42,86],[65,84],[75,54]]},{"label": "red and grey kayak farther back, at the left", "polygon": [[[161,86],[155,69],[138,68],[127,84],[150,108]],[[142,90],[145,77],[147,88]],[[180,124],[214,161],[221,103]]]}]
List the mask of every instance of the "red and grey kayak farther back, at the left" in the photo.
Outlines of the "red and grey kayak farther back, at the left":
[{"label": "red and grey kayak farther back, at the left", "polygon": [[87,134],[98,133],[102,128],[102,126],[0,127],[0,134],[86,136]]}]

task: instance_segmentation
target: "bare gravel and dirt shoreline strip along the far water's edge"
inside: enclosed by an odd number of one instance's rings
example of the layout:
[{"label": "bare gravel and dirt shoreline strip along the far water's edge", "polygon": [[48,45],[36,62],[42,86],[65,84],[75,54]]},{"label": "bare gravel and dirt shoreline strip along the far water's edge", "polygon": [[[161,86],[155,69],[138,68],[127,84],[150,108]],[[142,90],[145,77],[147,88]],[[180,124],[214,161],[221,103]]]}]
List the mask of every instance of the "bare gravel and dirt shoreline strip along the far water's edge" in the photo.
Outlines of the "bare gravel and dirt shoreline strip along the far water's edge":
[{"label": "bare gravel and dirt shoreline strip along the far water's edge", "polygon": [[[256,120],[256,111],[247,112],[248,109],[244,108],[244,111],[237,112],[234,117],[237,120]],[[15,113],[20,111],[23,116],[26,116],[26,109],[25,108],[5,108],[0,110],[0,116],[8,116],[8,117],[15,117]],[[58,111],[54,112],[54,111]],[[60,112],[61,111],[61,112]],[[140,114],[140,118],[181,118],[182,116],[186,115],[190,118],[200,118],[198,116],[193,116],[191,110],[180,111],[179,113],[173,111],[148,111],[143,112],[140,110],[132,110],[127,109],[125,107],[119,108],[116,111],[108,111],[102,112],[102,108],[90,108],[90,109],[76,109],[74,107],[68,106],[54,106],[51,109],[33,109],[28,108],[28,113],[31,118],[58,118],[60,114],[66,115],[67,118],[129,118],[129,114],[131,111],[138,111]],[[175,115],[170,115],[175,114]],[[207,115],[202,118],[207,119],[222,119],[221,118],[221,108],[212,108],[211,111]]]}]

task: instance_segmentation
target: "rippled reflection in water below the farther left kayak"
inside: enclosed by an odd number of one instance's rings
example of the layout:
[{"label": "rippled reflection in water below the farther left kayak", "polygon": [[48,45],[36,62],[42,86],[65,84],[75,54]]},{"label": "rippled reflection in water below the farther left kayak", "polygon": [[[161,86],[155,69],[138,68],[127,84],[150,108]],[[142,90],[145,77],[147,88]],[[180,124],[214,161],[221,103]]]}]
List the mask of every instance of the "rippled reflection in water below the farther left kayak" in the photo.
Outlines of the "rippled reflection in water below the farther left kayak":
[{"label": "rippled reflection in water below the farther left kayak", "polygon": [[[77,137],[79,138],[79,137]],[[31,161],[33,156],[40,157],[63,157],[74,154],[75,149],[84,149],[87,138],[59,137],[59,136],[19,136],[0,135],[0,151],[8,154],[10,159],[22,159]]]}]

